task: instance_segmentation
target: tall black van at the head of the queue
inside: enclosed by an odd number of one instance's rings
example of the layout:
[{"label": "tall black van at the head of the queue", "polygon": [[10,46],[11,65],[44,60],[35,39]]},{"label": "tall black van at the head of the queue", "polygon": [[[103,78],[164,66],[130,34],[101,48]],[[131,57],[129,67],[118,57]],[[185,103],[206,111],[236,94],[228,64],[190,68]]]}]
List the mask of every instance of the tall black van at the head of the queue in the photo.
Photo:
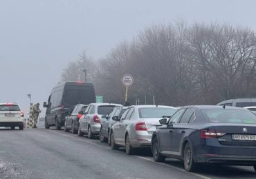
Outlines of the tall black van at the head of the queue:
[{"label": "tall black van at the head of the queue", "polygon": [[65,123],[65,116],[78,104],[88,105],[95,102],[95,91],[92,83],[65,82],[53,87],[46,109],[45,128],[55,126],[60,130]]}]

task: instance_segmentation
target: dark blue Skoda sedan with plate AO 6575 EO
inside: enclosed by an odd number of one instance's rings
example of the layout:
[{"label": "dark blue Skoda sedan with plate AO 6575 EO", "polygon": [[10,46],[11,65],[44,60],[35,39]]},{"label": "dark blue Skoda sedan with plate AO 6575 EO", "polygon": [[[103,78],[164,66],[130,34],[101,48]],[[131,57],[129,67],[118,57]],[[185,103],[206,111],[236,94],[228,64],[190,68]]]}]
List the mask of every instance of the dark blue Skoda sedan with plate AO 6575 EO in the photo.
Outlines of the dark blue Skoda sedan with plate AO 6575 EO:
[{"label": "dark blue Skoda sedan with plate AO 6575 EO", "polygon": [[256,116],[242,107],[182,107],[152,135],[156,162],[181,159],[186,171],[199,164],[248,165],[256,169]]}]

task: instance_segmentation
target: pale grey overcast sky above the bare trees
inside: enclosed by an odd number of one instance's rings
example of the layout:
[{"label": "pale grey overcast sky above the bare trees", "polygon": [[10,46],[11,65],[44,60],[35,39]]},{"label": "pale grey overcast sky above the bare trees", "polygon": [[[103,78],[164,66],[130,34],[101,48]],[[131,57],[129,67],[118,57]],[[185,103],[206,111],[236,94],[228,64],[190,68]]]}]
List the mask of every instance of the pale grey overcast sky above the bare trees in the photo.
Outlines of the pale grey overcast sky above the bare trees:
[{"label": "pale grey overcast sky above the bare trees", "polygon": [[[64,67],[84,50],[93,59],[149,25],[183,19],[256,30],[248,0],[1,0],[0,103],[42,103]],[[44,116],[44,114],[42,114]]]}]

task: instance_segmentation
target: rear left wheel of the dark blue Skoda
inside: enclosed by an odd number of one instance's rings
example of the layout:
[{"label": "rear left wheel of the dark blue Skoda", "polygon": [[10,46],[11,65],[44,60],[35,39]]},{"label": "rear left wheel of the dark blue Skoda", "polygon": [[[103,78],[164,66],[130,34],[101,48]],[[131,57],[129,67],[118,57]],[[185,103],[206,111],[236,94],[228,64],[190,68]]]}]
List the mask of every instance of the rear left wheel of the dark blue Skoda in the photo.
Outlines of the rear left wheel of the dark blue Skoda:
[{"label": "rear left wheel of the dark blue Skoda", "polygon": [[183,151],[183,162],[184,168],[186,171],[195,171],[197,164],[194,162],[194,154],[193,149],[190,143],[185,145],[185,149]]}]

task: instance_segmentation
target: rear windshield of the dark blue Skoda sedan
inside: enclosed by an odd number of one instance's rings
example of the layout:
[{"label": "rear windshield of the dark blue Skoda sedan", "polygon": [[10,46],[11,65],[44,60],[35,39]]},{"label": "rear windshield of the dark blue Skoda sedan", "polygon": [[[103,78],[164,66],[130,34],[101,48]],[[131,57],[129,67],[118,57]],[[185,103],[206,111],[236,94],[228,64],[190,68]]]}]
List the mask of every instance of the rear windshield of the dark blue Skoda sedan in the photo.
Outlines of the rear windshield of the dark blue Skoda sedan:
[{"label": "rear windshield of the dark blue Skoda sedan", "polygon": [[208,123],[256,124],[256,116],[250,111],[235,109],[202,109]]}]

